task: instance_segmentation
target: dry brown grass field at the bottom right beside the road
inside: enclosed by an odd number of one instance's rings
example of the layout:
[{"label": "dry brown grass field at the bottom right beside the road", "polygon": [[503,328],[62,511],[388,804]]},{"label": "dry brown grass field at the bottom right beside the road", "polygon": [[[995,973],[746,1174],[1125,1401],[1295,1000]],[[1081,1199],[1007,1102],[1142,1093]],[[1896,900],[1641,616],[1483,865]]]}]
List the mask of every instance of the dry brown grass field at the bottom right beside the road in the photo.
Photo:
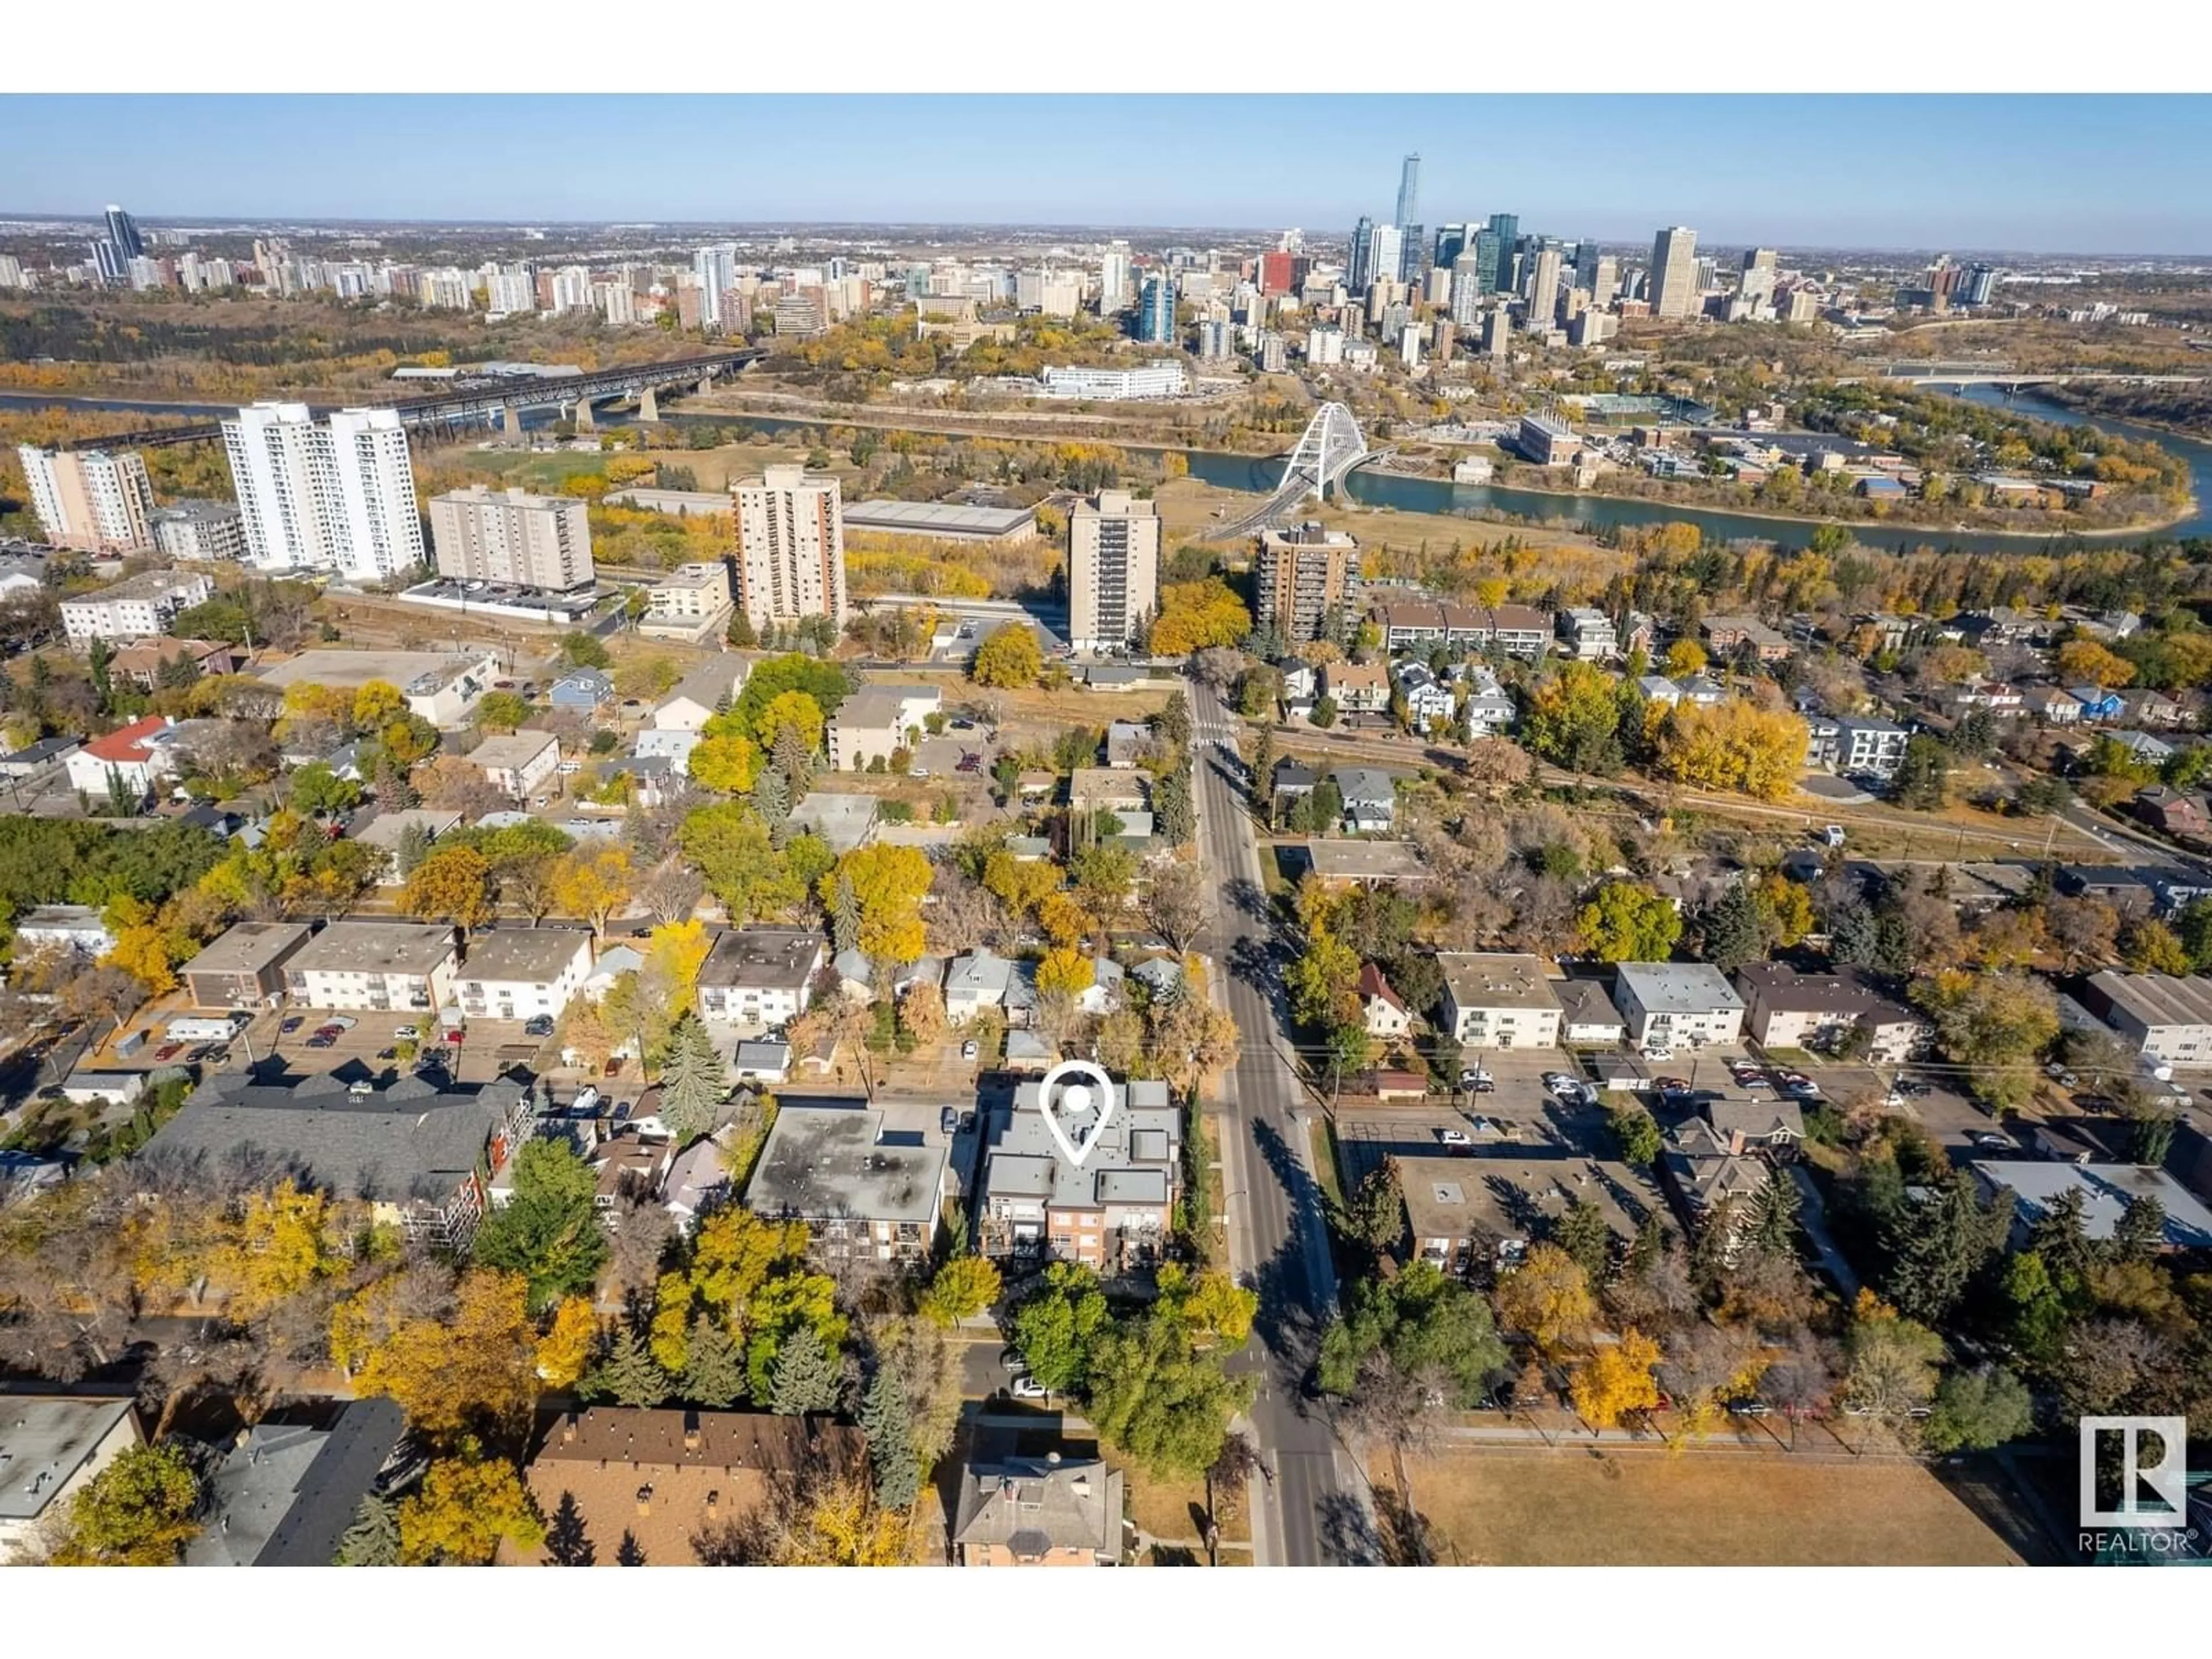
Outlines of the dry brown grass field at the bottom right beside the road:
[{"label": "dry brown grass field at the bottom right beside the road", "polygon": [[[1376,1484],[1389,1486],[1387,1462]],[[1409,1460],[1442,1564],[2017,1566],[1927,1469],[1725,1453],[1455,1451]]]}]

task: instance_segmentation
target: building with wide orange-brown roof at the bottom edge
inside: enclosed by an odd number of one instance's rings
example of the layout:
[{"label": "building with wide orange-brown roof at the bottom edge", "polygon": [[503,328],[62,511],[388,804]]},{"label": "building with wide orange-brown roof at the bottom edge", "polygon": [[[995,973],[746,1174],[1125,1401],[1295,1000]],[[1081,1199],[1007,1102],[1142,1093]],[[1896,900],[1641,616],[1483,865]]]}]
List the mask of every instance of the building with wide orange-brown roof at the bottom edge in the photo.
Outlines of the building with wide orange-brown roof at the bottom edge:
[{"label": "building with wide orange-brown roof at the bottom edge", "polygon": [[867,1478],[867,1438],[827,1416],[595,1405],[553,1420],[522,1482],[573,1517],[502,1566],[710,1566],[726,1531],[801,1478]]}]

